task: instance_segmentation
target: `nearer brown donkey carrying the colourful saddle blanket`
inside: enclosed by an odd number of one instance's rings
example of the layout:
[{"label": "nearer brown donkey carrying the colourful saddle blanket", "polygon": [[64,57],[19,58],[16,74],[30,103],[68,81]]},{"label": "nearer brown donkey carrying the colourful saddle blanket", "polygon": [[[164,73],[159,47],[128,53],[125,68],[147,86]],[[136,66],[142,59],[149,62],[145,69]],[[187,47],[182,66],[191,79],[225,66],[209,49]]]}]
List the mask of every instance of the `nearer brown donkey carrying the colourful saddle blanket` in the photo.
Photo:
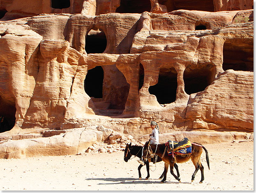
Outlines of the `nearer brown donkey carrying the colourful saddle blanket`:
[{"label": "nearer brown donkey carrying the colourful saddle blanket", "polygon": [[196,168],[194,174],[192,175],[191,182],[194,181],[195,176],[196,176],[196,172],[199,169],[201,170],[201,181],[199,183],[203,182],[203,180],[204,180],[203,165],[200,161],[200,157],[201,157],[201,154],[203,152],[203,149],[205,150],[206,161],[207,161],[208,168],[210,170],[208,152],[205,149],[205,147],[203,147],[203,145],[198,144],[198,143],[192,143],[192,148],[191,148],[192,153],[191,154],[188,154],[185,157],[177,155],[177,156],[175,156],[175,159],[173,159],[173,156],[172,155],[169,156],[168,153],[166,152],[167,148],[166,148],[165,143],[158,144],[158,145],[155,145],[155,144],[150,144],[149,145],[149,142],[150,142],[150,140],[148,142],[146,142],[145,145],[144,145],[143,160],[150,159],[150,157],[152,157],[152,154],[154,154],[154,153],[157,154],[160,157],[163,156],[163,154],[164,154],[164,156],[162,158],[162,160],[164,161],[164,179],[162,179],[161,182],[166,181],[166,174],[167,174],[169,165],[170,165],[171,174],[175,177],[175,179],[177,179],[180,182],[179,176],[176,176],[173,172],[173,166],[176,162],[177,163],[184,163],[184,162],[189,161],[190,159],[191,159],[191,161],[193,162],[193,164]]}]

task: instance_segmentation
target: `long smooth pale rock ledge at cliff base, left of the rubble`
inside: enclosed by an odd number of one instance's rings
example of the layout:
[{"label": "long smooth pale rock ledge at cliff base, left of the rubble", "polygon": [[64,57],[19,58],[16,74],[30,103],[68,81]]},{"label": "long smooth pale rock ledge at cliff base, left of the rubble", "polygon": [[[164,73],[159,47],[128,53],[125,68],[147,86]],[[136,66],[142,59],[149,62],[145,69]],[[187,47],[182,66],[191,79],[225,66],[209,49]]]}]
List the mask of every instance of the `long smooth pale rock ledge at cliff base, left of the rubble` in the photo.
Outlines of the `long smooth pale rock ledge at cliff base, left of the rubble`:
[{"label": "long smooth pale rock ledge at cliff base, left of the rubble", "polygon": [[101,131],[70,129],[66,133],[48,138],[8,140],[0,144],[0,158],[79,154],[95,142],[101,141],[102,135]]}]

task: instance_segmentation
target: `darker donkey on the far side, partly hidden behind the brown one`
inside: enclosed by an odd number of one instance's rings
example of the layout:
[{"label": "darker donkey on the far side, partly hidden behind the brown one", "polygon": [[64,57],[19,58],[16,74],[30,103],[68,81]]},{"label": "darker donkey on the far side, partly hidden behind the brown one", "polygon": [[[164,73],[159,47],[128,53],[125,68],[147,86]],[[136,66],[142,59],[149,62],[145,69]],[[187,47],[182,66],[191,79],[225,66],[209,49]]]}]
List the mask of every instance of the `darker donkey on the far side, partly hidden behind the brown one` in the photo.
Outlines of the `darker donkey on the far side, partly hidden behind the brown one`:
[{"label": "darker donkey on the far side, partly hidden behind the brown one", "polygon": [[[131,145],[130,144],[126,144],[126,147],[125,147],[125,156],[124,156],[124,160],[125,162],[127,162],[131,156],[136,156],[138,158],[142,158],[142,149],[143,149],[143,146],[138,146],[138,145]],[[151,161],[151,159],[150,159]],[[147,168],[147,172],[148,172],[148,175],[146,177],[146,179],[149,178],[149,162],[148,160],[144,161],[145,165],[146,165],[146,168]],[[156,162],[160,162],[162,161],[161,157],[157,156],[157,161]],[[139,179],[141,179],[141,168],[142,168],[142,164],[140,164],[138,166],[138,177]],[[180,177],[180,173],[179,173],[179,170],[178,170],[178,165],[175,163],[174,164],[174,168],[176,169],[177,171],[177,175],[178,177]],[[164,177],[164,172],[162,173],[162,175],[159,177],[159,179],[162,179]]]}]

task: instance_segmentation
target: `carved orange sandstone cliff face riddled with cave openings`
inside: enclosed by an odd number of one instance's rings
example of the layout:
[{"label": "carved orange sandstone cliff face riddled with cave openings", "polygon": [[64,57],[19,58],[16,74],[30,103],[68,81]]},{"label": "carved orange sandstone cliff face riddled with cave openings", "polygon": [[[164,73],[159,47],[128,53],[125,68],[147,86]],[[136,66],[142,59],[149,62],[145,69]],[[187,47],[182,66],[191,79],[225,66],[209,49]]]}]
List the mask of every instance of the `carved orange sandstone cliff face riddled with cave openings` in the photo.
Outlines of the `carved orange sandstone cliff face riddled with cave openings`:
[{"label": "carved orange sandstone cliff face riddled with cave openings", "polygon": [[253,1],[61,2],[0,4],[2,135],[253,132]]}]

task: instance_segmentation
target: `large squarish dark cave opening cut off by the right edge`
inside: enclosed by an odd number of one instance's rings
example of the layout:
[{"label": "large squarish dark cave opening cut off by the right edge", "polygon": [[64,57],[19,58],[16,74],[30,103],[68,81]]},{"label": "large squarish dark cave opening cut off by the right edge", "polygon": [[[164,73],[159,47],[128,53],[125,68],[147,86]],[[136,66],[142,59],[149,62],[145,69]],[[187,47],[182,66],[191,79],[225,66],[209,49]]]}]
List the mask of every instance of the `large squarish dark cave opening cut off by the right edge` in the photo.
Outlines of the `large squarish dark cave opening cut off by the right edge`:
[{"label": "large squarish dark cave opening cut off by the right edge", "polygon": [[254,71],[254,48],[253,44],[234,44],[225,42],[223,46],[224,71],[228,69],[238,71]]}]

